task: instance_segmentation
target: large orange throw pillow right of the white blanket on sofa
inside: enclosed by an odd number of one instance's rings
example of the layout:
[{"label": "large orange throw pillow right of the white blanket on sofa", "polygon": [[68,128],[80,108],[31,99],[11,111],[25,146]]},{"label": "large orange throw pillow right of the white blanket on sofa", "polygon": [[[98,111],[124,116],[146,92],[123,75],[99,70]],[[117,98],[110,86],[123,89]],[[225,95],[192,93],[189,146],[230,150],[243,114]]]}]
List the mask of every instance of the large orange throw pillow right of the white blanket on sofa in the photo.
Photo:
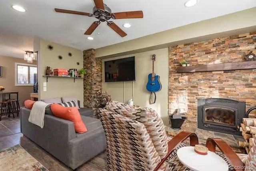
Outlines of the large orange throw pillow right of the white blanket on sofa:
[{"label": "large orange throw pillow right of the white blanket on sofa", "polygon": [[51,110],[54,116],[74,122],[77,133],[87,132],[87,128],[82,121],[77,107],[63,107],[55,103],[51,105]]}]

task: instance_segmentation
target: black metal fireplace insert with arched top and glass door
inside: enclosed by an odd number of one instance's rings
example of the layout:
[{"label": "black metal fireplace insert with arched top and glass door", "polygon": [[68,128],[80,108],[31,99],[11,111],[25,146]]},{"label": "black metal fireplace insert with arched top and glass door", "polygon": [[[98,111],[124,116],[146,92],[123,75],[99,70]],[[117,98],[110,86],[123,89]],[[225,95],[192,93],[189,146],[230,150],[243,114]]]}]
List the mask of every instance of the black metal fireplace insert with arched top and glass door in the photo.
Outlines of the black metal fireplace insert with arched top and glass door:
[{"label": "black metal fireplace insert with arched top and glass door", "polygon": [[232,99],[198,99],[198,128],[241,135],[239,124],[245,117],[245,102]]}]

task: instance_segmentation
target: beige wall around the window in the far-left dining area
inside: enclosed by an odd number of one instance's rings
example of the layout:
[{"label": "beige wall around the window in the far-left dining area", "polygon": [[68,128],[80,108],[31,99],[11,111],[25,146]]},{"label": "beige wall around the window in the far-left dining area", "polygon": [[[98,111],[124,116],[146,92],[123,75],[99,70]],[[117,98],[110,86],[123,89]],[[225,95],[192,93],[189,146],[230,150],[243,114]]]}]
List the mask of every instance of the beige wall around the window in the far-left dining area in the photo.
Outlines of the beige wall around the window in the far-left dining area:
[{"label": "beige wall around the window in the far-left dining area", "polygon": [[[33,93],[33,86],[15,86],[15,63],[28,64],[24,59],[0,56],[0,66],[2,66],[2,77],[0,77],[0,86],[4,86],[4,91],[18,91],[20,105],[24,105],[26,99],[30,99],[30,93]],[[31,64],[31,63],[30,63]],[[36,64],[34,62],[33,64]],[[16,95],[13,96],[16,98]],[[0,100],[2,96],[0,97]]]}]

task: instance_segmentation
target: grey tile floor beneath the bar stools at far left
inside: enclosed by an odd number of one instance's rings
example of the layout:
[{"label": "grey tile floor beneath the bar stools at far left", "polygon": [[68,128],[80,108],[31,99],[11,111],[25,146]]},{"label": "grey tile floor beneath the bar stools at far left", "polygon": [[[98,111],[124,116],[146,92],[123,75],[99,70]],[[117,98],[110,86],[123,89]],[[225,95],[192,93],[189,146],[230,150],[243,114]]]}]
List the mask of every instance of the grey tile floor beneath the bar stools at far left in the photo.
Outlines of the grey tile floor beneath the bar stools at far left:
[{"label": "grey tile floor beneath the bar stools at far left", "polygon": [[14,115],[15,118],[2,116],[0,121],[0,137],[5,137],[15,133],[20,133],[20,117]]}]

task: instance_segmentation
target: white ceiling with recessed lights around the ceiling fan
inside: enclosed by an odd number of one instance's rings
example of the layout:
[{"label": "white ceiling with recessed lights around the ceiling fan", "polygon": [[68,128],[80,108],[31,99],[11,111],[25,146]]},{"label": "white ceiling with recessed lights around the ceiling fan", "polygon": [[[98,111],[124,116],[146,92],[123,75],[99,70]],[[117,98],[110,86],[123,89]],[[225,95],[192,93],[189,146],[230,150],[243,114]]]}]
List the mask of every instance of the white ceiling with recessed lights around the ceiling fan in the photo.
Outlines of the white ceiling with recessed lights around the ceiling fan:
[{"label": "white ceiling with recessed lights around the ceiling fan", "polygon": [[[143,10],[144,18],[113,20],[128,34],[124,38],[102,22],[90,41],[84,32],[96,18],[57,13],[54,8],[91,13],[93,0],[0,0],[0,55],[23,58],[25,50],[33,49],[34,38],[80,50],[100,48],[256,6],[256,0],[198,0],[192,8],[185,8],[184,2],[104,0],[112,12]],[[18,12],[11,8],[13,4],[27,11]],[[126,22],[132,27],[123,28]]]}]

